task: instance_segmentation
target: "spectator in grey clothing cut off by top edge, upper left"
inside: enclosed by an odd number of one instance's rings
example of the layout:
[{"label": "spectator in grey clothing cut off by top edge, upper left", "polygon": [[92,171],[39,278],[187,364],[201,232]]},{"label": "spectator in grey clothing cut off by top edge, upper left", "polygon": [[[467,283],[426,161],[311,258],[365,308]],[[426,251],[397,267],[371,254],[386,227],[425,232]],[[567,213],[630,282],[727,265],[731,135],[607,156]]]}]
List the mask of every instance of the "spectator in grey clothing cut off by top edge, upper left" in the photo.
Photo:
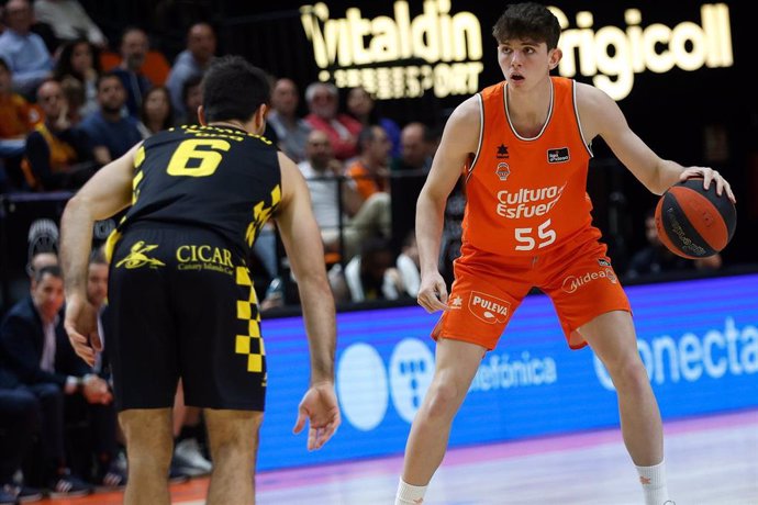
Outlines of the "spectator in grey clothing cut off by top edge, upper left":
[{"label": "spectator in grey clothing cut off by top edge, upper left", "polygon": [[37,22],[53,29],[58,43],[85,38],[99,48],[108,47],[108,40],[87,14],[78,0],[36,0]]}]

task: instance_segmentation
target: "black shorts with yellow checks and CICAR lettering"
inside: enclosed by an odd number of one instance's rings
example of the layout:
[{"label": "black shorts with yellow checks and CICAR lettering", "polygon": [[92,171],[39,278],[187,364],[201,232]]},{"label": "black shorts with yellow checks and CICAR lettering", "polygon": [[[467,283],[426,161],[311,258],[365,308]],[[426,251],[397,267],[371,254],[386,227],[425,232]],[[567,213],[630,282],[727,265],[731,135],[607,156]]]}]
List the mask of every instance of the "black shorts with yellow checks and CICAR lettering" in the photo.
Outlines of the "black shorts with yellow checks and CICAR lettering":
[{"label": "black shorts with yellow checks and CICAR lettering", "polygon": [[109,279],[116,406],[263,411],[266,357],[245,262],[219,235],[134,226],[116,244]]}]

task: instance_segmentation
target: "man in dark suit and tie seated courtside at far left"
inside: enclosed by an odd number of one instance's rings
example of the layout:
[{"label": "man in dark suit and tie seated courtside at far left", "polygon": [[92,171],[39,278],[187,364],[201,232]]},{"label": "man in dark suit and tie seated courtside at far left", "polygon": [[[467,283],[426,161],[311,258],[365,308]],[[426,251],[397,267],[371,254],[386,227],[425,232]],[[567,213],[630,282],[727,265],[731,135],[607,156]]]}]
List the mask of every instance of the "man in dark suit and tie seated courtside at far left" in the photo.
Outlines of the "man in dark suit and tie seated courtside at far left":
[{"label": "man in dark suit and tie seated courtside at far left", "polygon": [[42,407],[42,464],[52,496],[81,496],[91,485],[73,475],[64,449],[64,400],[81,393],[92,403],[110,402],[107,384],[87,375],[68,344],[59,316],[63,278],[56,266],[34,274],[31,295],[16,303],[0,326],[0,360]]}]

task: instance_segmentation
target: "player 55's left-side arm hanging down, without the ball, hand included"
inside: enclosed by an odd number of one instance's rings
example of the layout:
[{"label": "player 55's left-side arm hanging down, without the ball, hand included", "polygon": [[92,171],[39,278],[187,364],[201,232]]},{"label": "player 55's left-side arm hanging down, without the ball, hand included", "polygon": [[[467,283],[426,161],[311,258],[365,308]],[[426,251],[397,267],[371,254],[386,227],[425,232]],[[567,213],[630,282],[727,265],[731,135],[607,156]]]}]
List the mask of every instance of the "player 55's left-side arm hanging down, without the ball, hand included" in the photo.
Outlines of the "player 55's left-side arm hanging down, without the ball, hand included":
[{"label": "player 55's left-side arm hanging down, without the ball, hand included", "polygon": [[416,243],[421,285],[416,300],[427,312],[447,310],[447,287],[439,274],[439,242],[445,222],[445,203],[460,178],[469,155],[477,152],[480,102],[471,97],[453,112],[445,125],[432,170],[416,203]]}]

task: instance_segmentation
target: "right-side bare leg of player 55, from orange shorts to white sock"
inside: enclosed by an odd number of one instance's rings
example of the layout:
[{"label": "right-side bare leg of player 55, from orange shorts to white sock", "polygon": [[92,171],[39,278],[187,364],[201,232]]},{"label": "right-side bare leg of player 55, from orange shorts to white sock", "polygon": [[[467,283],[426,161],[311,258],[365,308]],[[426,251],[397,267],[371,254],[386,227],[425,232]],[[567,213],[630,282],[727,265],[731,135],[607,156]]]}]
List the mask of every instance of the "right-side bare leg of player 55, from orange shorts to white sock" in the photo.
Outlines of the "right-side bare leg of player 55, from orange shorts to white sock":
[{"label": "right-side bare leg of player 55, from orange shorts to white sock", "polygon": [[638,467],[664,460],[664,428],[658,403],[637,351],[632,315],[624,311],[602,314],[579,333],[611,374],[618,394],[621,429],[626,450]]}]

